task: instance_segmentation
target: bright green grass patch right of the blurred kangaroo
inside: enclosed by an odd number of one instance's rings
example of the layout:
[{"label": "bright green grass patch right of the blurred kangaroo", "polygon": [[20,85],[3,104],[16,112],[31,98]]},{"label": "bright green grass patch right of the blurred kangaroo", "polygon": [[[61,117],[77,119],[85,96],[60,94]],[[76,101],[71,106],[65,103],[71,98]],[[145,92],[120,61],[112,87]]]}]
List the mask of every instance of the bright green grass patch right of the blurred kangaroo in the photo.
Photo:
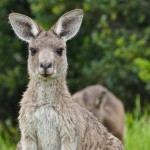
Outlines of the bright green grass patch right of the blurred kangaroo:
[{"label": "bright green grass patch right of the blurred kangaroo", "polygon": [[148,107],[141,111],[140,98],[137,97],[136,109],[126,114],[126,150],[150,150],[150,116]]}]

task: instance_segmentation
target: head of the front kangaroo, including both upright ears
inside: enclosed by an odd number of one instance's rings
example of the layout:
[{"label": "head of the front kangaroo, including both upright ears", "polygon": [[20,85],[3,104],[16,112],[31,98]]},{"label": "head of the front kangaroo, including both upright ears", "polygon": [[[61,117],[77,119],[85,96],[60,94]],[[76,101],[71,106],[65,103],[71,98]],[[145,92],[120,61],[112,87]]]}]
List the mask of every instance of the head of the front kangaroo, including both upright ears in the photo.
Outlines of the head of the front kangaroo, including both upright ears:
[{"label": "head of the front kangaroo, including both upright ears", "polygon": [[18,13],[9,15],[10,24],[16,35],[29,44],[30,77],[45,79],[66,75],[66,41],[77,34],[82,18],[82,10],[69,11],[46,31],[28,16]]}]

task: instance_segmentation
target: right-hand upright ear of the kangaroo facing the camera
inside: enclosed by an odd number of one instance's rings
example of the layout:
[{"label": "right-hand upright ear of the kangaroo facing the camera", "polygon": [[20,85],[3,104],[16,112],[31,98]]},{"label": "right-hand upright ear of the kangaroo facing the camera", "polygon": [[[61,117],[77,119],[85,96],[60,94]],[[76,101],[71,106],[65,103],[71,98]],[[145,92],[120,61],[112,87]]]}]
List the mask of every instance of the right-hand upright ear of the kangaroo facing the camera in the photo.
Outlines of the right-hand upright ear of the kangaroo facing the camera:
[{"label": "right-hand upright ear of the kangaroo facing the camera", "polygon": [[81,9],[69,11],[59,18],[53,30],[58,36],[67,41],[73,38],[79,31],[82,18],[83,11]]}]

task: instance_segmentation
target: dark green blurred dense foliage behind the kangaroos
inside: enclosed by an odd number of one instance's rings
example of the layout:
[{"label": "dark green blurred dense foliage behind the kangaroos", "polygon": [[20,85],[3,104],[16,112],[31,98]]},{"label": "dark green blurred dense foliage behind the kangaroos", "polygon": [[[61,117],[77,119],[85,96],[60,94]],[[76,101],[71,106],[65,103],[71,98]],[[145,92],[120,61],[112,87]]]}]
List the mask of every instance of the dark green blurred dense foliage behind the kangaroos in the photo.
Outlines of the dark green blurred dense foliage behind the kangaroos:
[{"label": "dark green blurred dense foliage behind the kangaroos", "polygon": [[49,29],[66,11],[82,8],[79,34],[68,42],[68,85],[71,93],[103,84],[132,109],[150,90],[150,1],[148,0],[1,0],[0,119],[16,118],[27,84],[27,45],[10,25],[12,11],[33,17]]}]

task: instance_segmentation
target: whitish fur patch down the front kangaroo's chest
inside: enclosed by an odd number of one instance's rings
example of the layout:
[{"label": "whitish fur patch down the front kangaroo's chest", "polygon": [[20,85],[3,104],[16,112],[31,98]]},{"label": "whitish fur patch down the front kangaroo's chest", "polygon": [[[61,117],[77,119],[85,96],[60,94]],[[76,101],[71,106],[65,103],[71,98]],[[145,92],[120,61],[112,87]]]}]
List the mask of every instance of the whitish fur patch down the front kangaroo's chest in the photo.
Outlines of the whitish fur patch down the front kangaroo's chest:
[{"label": "whitish fur patch down the front kangaroo's chest", "polygon": [[57,112],[49,106],[38,108],[34,114],[35,131],[39,150],[60,150],[60,119]]}]

